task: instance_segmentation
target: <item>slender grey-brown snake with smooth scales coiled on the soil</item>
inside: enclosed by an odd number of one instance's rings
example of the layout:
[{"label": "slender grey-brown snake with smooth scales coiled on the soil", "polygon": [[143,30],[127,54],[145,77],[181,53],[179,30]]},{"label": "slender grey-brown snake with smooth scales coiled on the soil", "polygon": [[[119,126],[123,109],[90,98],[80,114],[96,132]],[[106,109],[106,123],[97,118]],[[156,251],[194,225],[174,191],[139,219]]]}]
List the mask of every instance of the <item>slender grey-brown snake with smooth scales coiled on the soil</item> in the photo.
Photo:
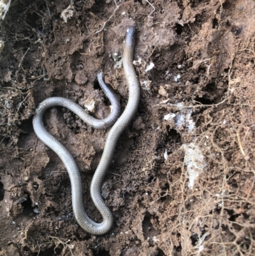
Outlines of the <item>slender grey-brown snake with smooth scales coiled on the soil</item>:
[{"label": "slender grey-brown snake with smooth scales coiled on the soil", "polygon": [[52,97],[41,102],[38,109],[36,109],[36,114],[33,118],[34,132],[36,135],[43,143],[45,143],[48,147],[55,151],[55,153],[58,154],[66,169],[68,170],[68,174],[71,180],[73,213],[75,214],[77,222],[82,227],[82,229],[94,235],[105,234],[111,229],[113,225],[112,213],[110,209],[105,205],[103,197],[101,196],[101,186],[108,167],[112,162],[113,153],[115,151],[115,146],[120,137],[120,134],[125,130],[131,119],[135,116],[140,100],[140,86],[136,77],[135,68],[133,66],[133,49],[135,42],[134,36],[134,27],[129,27],[126,34],[123,53],[124,73],[129,86],[128,105],[108,134],[103,155],[91,183],[91,197],[99,212],[103,216],[103,222],[93,222],[85,213],[82,197],[82,179],[80,177],[77,164],[75,163],[75,160],[69,151],[57,139],[50,135],[50,133],[48,133],[43,126],[43,114],[46,109],[53,106],[62,106],[68,108],[69,110],[75,112],[75,114],[77,114],[77,116],[79,116],[85,123],[91,125],[94,128],[106,128],[113,124],[119,116],[120,105],[115,95],[108,87],[106,87],[105,83],[103,82],[102,74],[98,74],[99,84],[113,105],[112,113],[105,119],[94,119],[94,117],[91,117],[85,113],[84,110],[76,103],[61,97]]}]

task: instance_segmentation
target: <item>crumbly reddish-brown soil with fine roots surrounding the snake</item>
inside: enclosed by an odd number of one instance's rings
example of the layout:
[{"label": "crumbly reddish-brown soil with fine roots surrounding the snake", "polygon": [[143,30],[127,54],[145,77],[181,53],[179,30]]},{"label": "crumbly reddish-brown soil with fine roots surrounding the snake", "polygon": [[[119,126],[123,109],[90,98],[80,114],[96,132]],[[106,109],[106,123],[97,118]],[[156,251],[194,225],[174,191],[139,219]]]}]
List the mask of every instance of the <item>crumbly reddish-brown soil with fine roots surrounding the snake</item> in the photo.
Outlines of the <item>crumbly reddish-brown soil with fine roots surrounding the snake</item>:
[{"label": "crumbly reddish-brown soil with fine roots surrounding the snake", "polygon": [[[11,1],[0,38],[0,255],[255,255],[255,2],[148,2]],[[113,227],[92,236],[33,114],[62,96],[106,117],[100,70],[123,111],[129,26],[140,105],[102,186]],[[74,156],[85,211],[101,222],[89,188],[110,128],[61,107],[44,124]]]}]

